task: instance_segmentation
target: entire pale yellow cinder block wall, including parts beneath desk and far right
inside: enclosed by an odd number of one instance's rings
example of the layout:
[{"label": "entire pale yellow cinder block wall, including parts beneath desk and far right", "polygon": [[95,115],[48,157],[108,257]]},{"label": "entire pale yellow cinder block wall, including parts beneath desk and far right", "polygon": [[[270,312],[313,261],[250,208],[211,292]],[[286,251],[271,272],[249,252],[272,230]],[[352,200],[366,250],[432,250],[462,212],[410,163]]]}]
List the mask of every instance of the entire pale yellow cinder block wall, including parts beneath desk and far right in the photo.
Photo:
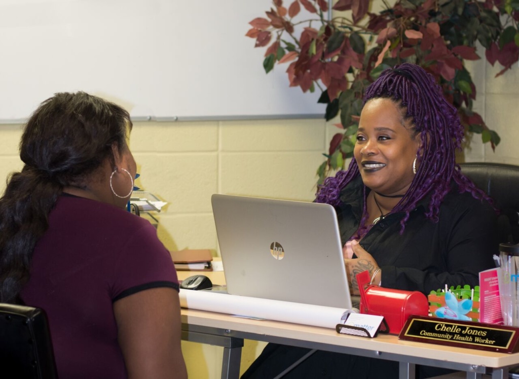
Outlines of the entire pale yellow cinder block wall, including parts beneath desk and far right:
[{"label": "entire pale yellow cinder block wall, including parts beneath desk and far right", "polygon": [[[519,164],[519,67],[495,79],[498,71],[483,61],[472,65],[476,110],[500,134],[501,144],[492,152],[477,135],[466,161]],[[169,249],[216,251],[210,204],[216,192],[312,200],[321,154],[336,132],[322,119],[135,123],[131,148],[142,175],[137,185],[168,202],[158,216],[160,239]],[[0,125],[2,178],[21,168],[20,134],[20,125]],[[2,179],[0,190],[4,187]],[[243,368],[263,346],[246,343]],[[192,343],[183,348],[190,377],[220,377],[220,348]]]}]

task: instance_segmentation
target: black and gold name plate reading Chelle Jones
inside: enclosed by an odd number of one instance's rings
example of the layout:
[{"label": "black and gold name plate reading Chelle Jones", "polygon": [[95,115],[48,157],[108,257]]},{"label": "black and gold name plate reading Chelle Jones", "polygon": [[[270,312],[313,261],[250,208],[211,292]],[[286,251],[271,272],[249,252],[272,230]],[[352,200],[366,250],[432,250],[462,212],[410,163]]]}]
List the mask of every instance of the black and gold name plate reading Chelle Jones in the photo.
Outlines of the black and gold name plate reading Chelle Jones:
[{"label": "black and gold name plate reading Chelle Jones", "polygon": [[519,328],[411,316],[398,337],[407,341],[510,353],[518,350]]}]

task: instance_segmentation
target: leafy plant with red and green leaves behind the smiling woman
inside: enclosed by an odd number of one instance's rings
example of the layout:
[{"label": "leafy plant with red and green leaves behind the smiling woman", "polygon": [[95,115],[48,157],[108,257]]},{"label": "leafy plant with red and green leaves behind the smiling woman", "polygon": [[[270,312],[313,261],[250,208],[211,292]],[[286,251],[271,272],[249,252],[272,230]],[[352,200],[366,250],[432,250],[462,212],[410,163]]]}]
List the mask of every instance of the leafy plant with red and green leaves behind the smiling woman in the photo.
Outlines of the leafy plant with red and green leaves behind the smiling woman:
[{"label": "leafy plant with red and green leaves behind the smiling woman", "polygon": [[[519,59],[519,0],[397,0],[370,12],[372,0],[338,0],[329,14],[327,0],[273,0],[266,17],[250,22],[247,36],[267,47],[263,66],[289,63],[290,86],[321,91],[326,120],[340,116],[343,129],[330,142],[318,169],[318,184],[330,169],[344,168],[353,154],[364,89],[380,73],[413,62],[433,74],[457,109],[466,133],[481,134],[494,149],[499,136],[472,110],[476,88],[465,61],[481,59],[502,66]],[[298,20],[304,10],[309,18]],[[350,12],[344,12],[350,11]],[[298,32],[296,32],[298,31]]]}]

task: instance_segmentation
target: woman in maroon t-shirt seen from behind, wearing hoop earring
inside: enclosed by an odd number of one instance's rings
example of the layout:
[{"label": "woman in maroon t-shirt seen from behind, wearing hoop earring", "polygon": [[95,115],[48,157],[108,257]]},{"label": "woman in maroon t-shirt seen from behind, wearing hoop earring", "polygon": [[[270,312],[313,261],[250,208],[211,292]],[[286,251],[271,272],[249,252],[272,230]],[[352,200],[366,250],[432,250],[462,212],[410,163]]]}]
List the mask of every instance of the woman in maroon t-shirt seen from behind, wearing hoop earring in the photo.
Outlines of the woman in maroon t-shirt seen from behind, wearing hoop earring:
[{"label": "woman in maroon t-shirt seen from behind, wearing hoop earring", "polygon": [[46,311],[58,375],[183,378],[179,284],[155,228],[126,211],[128,112],[59,93],[32,114],[0,199],[0,302]]}]

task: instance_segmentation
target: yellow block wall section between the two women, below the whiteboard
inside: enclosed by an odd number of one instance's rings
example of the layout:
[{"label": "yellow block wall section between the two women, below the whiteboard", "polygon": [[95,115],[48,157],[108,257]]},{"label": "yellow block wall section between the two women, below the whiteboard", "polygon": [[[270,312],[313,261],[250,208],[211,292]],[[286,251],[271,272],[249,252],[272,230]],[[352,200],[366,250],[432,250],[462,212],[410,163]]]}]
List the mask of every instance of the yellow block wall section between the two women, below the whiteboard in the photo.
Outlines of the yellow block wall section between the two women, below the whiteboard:
[{"label": "yellow block wall section between the two women, below the whiteboard", "polygon": [[159,237],[170,249],[216,250],[213,193],[312,200],[325,132],[322,119],[135,123],[137,185],[168,202]]}]

